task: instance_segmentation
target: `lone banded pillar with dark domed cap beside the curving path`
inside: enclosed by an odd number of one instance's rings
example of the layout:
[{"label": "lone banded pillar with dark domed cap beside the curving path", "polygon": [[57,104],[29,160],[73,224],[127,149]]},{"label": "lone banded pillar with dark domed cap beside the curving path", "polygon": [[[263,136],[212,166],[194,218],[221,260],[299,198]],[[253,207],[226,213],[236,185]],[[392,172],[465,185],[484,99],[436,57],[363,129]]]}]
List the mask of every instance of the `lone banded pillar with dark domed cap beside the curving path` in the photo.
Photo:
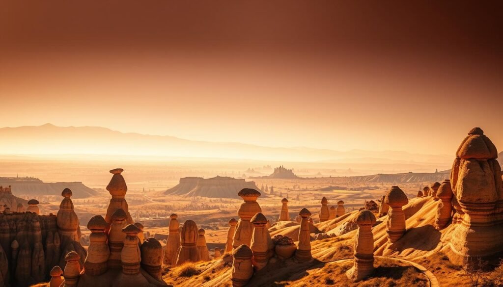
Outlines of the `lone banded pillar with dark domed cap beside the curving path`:
[{"label": "lone banded pillar with dark domed cap beside the curving path", "polygon": [[355,263],[346,272],[346,276],[352,281],[359,281],[374,270],[374,235],[372,226],[376,223],[374,214],[369,210],[362,210],[356,218],[358,232],[355,239]]}]

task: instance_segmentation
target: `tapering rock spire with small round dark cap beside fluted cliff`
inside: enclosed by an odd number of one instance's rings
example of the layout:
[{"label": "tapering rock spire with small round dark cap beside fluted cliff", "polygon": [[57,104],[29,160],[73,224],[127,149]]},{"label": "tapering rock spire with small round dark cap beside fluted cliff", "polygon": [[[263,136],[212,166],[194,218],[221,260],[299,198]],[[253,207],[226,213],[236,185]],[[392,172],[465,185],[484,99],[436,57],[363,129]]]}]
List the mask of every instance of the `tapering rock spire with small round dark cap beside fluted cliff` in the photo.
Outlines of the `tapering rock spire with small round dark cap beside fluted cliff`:
[{"label": "tapering rock spire with small round dark cap beside fluted cliff", "polygon": [[56,224],[61,238],[67,238],[71,241],[80,241],[80,226],[77,214],[73,211],[72,196],[69,188],[63,189],[61,193],[63,200],[59,205],[59,210],[56,215]]}]

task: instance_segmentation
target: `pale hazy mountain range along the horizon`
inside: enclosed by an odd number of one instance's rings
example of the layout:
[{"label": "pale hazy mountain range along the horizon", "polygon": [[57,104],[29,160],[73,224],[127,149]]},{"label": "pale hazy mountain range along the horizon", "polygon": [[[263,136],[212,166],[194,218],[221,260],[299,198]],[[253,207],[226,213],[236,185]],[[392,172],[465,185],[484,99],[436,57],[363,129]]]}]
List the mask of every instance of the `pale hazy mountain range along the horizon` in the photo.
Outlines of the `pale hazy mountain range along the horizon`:
[{"label": "pale hazy mountain range along the horizon", "polygon": [[[451,164],[448,155],[404,151],[346,152],[308,147],[266,147],[246,143],[217,143],[173,136],[121,133],[101,127],[58,127],[51,124],[0,128],[0,153],[17,155],[140,155],[206,157],[277,161],[373,162]],[[246,139],[241,139],[246,141]]]}]

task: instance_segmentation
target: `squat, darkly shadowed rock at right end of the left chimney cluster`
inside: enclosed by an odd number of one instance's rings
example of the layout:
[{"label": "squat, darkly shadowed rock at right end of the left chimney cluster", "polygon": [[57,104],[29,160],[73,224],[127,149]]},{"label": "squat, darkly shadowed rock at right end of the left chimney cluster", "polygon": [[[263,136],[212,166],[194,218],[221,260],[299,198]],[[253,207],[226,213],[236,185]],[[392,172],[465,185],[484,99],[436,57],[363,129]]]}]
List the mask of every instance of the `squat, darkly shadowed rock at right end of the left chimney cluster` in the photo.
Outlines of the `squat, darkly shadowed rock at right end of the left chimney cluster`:
[{"label": "squat, darkly shadowed rock at right end of the left chimney cluster", "polygon": [[153,238],[147,238],[141,244],[141,267],[147,271],[150,276],[157,280],[161,279],[162,271],[162,245],[160,242]]}]

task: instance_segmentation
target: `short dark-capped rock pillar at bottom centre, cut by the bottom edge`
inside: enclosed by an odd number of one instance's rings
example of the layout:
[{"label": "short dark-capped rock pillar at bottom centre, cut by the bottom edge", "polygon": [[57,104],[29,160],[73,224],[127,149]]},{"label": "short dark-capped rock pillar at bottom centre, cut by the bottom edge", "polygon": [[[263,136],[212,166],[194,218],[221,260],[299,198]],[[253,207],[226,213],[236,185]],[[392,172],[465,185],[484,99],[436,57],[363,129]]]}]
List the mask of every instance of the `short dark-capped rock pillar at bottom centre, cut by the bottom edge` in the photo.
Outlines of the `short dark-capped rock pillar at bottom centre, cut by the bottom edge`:
[{"label": "short dark-capped rock pillar at bottom centre, cut by the bottom edge", "polygon": [[242,244],[232,252],[232,287],[242,287],[253,275],[251,257],[253,252],[246,244]]}]

